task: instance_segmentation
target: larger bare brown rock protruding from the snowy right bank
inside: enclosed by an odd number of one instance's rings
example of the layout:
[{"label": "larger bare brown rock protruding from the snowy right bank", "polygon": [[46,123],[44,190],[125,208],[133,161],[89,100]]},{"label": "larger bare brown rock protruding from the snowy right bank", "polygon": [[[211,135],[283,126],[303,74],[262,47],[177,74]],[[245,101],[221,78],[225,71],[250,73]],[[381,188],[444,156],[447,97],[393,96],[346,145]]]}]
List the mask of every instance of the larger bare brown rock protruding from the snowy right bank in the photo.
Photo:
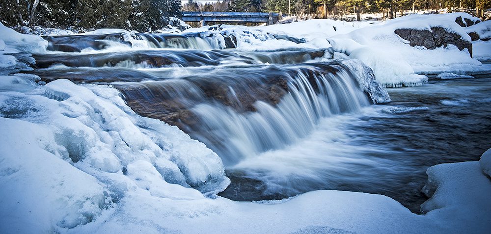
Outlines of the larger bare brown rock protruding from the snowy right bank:
[{"label": "larger bare brown rock protruding from the snowy right bank", "polygon": [[422,46],[433,50],[439,47],[455,45],[459,50],[467,49],[472,56],[472,43],[464,40],[461,35],[449,32],[443,27],[432,27],[431,30],[419,30],[412,28],[399,28],[394,31],[411,46]]}]

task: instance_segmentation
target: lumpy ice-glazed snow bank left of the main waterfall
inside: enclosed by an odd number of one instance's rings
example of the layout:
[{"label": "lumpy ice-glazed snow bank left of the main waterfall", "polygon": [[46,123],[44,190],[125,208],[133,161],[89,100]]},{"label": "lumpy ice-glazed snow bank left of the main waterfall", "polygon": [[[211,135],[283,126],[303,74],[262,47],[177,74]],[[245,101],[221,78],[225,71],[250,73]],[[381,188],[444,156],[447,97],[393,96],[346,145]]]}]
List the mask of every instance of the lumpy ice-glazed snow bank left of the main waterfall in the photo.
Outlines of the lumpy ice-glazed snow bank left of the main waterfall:
[{"label": "lumpy ice-glazed snow bank left of the main waterfall", "polygon": [[0,139],[0,228],[7,233],[86,224],[129,191],[205,199],[230,183],[213,151],[136,115],[116,89],[35,79],[0,77],[0,130],[9,133]]}]

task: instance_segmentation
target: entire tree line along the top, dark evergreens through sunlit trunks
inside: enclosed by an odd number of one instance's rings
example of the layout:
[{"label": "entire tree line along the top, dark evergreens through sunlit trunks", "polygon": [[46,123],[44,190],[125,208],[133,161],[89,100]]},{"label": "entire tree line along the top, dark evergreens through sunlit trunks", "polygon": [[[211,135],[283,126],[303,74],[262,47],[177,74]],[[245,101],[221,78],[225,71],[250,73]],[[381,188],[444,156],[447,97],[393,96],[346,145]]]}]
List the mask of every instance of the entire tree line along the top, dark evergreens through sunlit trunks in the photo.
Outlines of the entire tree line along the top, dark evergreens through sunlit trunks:
[{"label": "entire tree line along the top, dark evergreens through sunlit trunks", "polygon": [[[198,4],[199,3],[199,4]],[[0,21],[8,26],[43,26],[61,29],[123,28],[151,32],[166,26],[168,17],[182,11],[282,12],[327,15],[383,12],[394,18],[409,9],[477,9],[478,17],[491,8],[491,0],[0,0]]]}]

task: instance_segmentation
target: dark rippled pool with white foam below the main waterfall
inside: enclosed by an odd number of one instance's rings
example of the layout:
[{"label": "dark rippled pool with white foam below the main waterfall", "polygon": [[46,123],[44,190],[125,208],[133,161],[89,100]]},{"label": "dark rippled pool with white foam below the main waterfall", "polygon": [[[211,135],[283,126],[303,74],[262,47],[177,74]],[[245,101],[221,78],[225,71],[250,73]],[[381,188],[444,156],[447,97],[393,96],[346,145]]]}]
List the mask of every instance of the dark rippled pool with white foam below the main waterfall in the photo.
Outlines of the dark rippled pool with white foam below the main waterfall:
[{"label": "dark rippled pool with white foam below the main waterfall", "polygon": [[326,119],[302,142],[228,168],[232,184],[219,195],[257,201],[337,189],[383,194],[418,213],[428,167],[491,148],[491,76],[388,92],[389,104]]}]

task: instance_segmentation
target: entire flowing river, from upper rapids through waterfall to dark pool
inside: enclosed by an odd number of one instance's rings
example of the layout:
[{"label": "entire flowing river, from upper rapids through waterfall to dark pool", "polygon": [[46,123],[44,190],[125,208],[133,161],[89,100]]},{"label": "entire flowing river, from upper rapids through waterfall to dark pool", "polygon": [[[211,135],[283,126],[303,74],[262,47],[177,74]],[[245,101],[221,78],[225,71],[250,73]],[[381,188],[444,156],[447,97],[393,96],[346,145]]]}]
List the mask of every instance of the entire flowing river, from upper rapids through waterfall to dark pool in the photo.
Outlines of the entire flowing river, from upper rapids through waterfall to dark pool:
[{"label": "entire flowing river, from upper rapids through waterfall to dark pool", "polygon": [[371,70],[328,50],[248,52],[235,49],[241,38],[215,34],[127,37],[47,37],[32,73],[110,84],[139,115],[178,126],[220,156],[231,184],[218,195],[232,200],[336,189],[419,212],[428,167],[491,148],[490,76],[388,89],[392,102],[380,104],[388,96]]}]

